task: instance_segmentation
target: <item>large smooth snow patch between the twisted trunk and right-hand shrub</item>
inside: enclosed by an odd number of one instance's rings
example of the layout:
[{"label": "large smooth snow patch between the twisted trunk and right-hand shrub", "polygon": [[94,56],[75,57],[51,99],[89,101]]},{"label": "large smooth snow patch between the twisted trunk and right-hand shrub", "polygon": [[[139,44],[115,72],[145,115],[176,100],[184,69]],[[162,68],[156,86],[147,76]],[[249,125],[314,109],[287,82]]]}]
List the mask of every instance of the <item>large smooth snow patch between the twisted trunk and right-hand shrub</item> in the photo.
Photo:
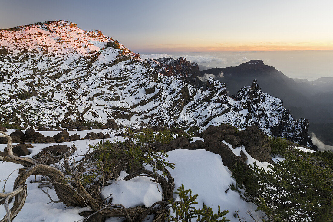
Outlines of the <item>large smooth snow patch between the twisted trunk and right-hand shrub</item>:
[{"label": "large smooth snow patch between the twisted trunk and right-hand shrub", "polygon": [[[237,210],[240,211],[241,217],[247,219],[249,219],[247,210],[251,210],[255,216],[260,216],[260,212],[254,212],[256,206],[241,199],[237,192],[229,189],[225,193],[230,184],[236,182],[218,154],[203,149],[176,149],[167,154],[169,155],[167,160],[175,163],[174,170],[168,169],[174,179],[175,192],[183,184],[185,189],[192,190],[192,195],[198,194],[196,199],[198,204],[194,205],[197,209],[202,208],[205,203],[217,213],[220,205],[221,210],[229,211],[226,218],[235,222],[238,219],[234,218],[233,214]],[[175,200],[179,200],[179,197],[176,196]]]}]

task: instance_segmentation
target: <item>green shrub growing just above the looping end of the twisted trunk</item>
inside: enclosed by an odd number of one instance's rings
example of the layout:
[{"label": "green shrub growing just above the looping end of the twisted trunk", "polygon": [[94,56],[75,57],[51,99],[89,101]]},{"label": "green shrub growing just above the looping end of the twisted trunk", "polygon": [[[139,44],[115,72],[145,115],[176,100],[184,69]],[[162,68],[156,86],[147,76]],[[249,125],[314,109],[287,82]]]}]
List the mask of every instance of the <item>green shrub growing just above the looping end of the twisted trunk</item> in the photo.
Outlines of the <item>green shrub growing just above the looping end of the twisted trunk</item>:
[{"label": "green shrub growing just above the looping end of the twisted trunk", "polygon": [[153,151],[147,146],[106,140],[105,142],[100,141],[94,146],[89,144],[89,147],[93,152],[87,161],[96,162],[96,168],[99,170],[83,175],[84,184],[97,182],[100,175],[107,180],[117,179],[121,171],[126,170],[127,173],[133,173],[143,168],[143,164],[153,167],[153,172],[157,172],[163,167],[174,169],[174,163],[166,160],[168,155],[165,152]]}]

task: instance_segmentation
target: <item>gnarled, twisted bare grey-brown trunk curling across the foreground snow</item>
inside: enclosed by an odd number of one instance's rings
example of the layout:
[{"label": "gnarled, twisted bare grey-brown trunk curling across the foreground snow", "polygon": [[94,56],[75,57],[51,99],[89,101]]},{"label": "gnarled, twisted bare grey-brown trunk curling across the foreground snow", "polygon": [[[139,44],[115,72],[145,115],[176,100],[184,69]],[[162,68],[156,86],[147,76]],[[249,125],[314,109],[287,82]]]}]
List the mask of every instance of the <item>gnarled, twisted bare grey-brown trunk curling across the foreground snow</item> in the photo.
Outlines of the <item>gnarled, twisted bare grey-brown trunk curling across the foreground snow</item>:
[{"label": "gnarled, twisted bare grey-brown trunk curling across the foreground snow", "polygon": [[[99,212],[105,217],[121,217],[126,218],[125,221],[143,221],[148,215],[155,214],[155,222],[165,221],[166,216],[168,215],[168,202],[173,198],[174,190],[174,181],[171,177],[169,171],[163,167],[162,170],[166,177],[161,176],[152,171],[141,169],[138,172],[132,173],[124,178],[124,180],[130,180],[137,176],[149,176],[154,179],[155,182],[161,185],[163,200],[156,202],[150,208],[145,206],[136,206],[131,208],[125,208],[121,204],[111,204],[105,203],[101,199],[100,189],[93,189],[93,191],[87,191],[87,189],[82,185],[78,174],[75,174],[74,182],[68,182],[68,177],[64,175],[65,171],[61,171],[55,166],[46,165],[30,157],[18,157],[13,153],[13,141],[12,138],[7,135],[5,132],[0,131],[3,135],[0,137],[7,137],[7,150],[8,155],[0,155],[0,160],[19,163],[25,166],[23,170],[20,171],[18,177],[14,182],[13,191],[9,193],[0,193],[0,205],[4,205],[6,210],[6,215],[0,220],[0,222],[11,222],[17,214],[22,209],[26,197],[27,197],[27,185],[26,180],[31,175],[42,175],[46,176],[48,182],[52,183],[56,194],[60,201],[68,206],[89,206],[94,212]],[[67,162],[67,168],[69,169],[68,164],[68,155],[64,155],[65,163]],[[85,160],[83,160],[84,162]],[[80,164],[78,164],[80,165]],[[75,170],[75,169],[70,169]],[[65,173],[68,175],[67,173]],[[80,172],[82,175],[82,172]],[[9,208],[10,199],[14,199],[14,204],[12,208]],[[156,207],[156,205],[158,205]],[[154,208],[155,207],[155,208]]]}]

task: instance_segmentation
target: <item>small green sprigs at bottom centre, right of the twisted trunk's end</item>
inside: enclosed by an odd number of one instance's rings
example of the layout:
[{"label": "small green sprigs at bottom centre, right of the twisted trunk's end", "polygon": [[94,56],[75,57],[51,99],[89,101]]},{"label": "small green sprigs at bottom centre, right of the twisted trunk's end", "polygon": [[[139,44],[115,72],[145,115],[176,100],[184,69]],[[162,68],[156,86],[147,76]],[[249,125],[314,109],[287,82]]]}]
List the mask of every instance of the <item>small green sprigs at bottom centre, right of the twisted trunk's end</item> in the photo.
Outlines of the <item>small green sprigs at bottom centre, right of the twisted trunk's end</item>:
[{"label": "small green sprigs at bottom centre, right of the twisted trunk's end", "polygon": [[[206,205],[203,205],[202,209],[195,209],[193,204],[198,204],[196,202],[197,194],[192,196],[191,189],[185,190],[184,185],[181,184],[179,188],[177,188],[178,192],[175,192],[179,195],[180,201],[169,200],[168,202],[173,209],[173,215],[169,216],[168,221],[172,222],[189,222],[191,219],[197,217],[197,222],[226,222],[230,221],[223,217],[218,220],[218,218],[226,215],[228,213],[227,210],[223,210],[221,212],[220,206],[218,206],[218,213],[214,214],[213,210]],[[169,210],[170,215],[170,210]]]}]

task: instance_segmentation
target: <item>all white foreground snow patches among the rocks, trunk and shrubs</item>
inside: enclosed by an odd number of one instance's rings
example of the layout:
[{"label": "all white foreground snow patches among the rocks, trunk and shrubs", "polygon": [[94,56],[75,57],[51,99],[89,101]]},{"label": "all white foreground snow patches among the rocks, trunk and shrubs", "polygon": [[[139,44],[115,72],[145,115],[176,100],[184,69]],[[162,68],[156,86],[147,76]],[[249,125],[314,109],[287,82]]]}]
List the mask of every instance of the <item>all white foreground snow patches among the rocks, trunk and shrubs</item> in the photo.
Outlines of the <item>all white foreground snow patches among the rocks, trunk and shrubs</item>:
[{"label": "all white foreground snow patches among the rocks, trunk and shrubs", "polygon": [[[93,130],[87,130],[93,131]],[[45,133],[51,133],[52,131],[45,131]],[[58,131],[56,131],[58,132]],[[71,132],[71,131],[69,131]],[[73,132],[73,131],[72,131]],[[87,133],[87,132],[84,132]],[[88,150],[88,144],[96,144],[99,141],[105,140],[124,140],[122,137],[115,137],[114,135],[109,139],[96,139],[96,140],[78,140],[73,141],[78,150],[75,155],[81,155]],[[194,141],[202,140],[200,137],[194,137]],[[72,145],[73,142],[65,142],[61,144]],[[225,141],[223,141],[225,143]],[[58,143],[59,144],[59,143]],[[235,154],[240,154],[240,150],[243,150],[246,155],[247,152],[243,147],[237,147],[233,149],[230,144],[226,143]],[[29,148],[32,153],[29,157],[37,154],[42,148],[51,146],[54,144],[33,144],[33,148]],[[3,150],[6,144],[0,144],[0,150]],[[259,217],[261,212],[254,212],[256,206],[252,203],[247,203],[240,198],[237,192],[231,191],[229,188],[231,183],[235,183],[235,180],[231,177],[230,170],[222,163],[221,157],[218,154],[211,153],[206,150],[185,150],[176,149],[167,152],[169,157],[168,161],[175,163],[175,169],[169,169],[175,182],[175,189],[184,184],[185,189],[190,188],[192,194],[198,194],[196,208],[202,208],[202,204],[205,203],[208,207],[211,207],[214,213],[217,212],[217,206],[221,206],[221,210],[229,210],[226,215],[231,221],[237,221],[233,214],[236,210],[240,211],[240,215],[244,218],[248,218],[246,214],[247,210]],[[236,154],[236,155],[237,155]],[[78,160],[80,157],[75,158]],[[252,163],[254,160],[248,155],[248,163]],[[260,163],[264,164],[264,163]],[[5,179],[15,169],[19,169],[20,164],[3,162],[0,163],[0,179]],[[148,166],[146,166],[149,169]],[[8,179],[5,187],[5,191],[9,192],[12,189],[12,184],[18,175],[18,170],[14,171]],[[145,205],[146,207],[152,206],[153,203],[162,200],[162,194],[158,191],[155,182],[151,181],[150,177],[135,177],[129,181],[123,180],[128,175],[124,171],[121,172],[117,181],[110,181],[112,184],[102,189],[102,198],[108,197],[110,194],[113,198],[112,203],[120,203],[125,207],[132,207],[138,205]],[[73,222],[83,219],[78,215],[79,212],[87,210],[86,208],[79,207],[67,207],[62,203],[47,204],[49,199],[46,194],[38,188],[38,184],[29,183],[38,179],[38,176],[30,176],[27,180],[28,193],[27,200],[23,206],[22,211],[14,219],[14,222],[26,221],[26,218],[30,218],[31,221],[46,221],[46,222]],[[4,181],[0,182],[0,186],[4,184]],[[47,189],[46,187],[44,189]],[[159,189],[162,190],[161,186]],[[48,189],[51,197],[57,200],[54,189]],[[177,195],[174,195],[175,200],[179,200]],[[107,200],[108,201],[108,200]],[[0,207],[0,215],[4,215],[4,208]],[[150,220],[152,217],[150,217]],[[122,221],[122,219],[110,218],[107,221]],[[149,220],[147,220],[149,221]]]}]

